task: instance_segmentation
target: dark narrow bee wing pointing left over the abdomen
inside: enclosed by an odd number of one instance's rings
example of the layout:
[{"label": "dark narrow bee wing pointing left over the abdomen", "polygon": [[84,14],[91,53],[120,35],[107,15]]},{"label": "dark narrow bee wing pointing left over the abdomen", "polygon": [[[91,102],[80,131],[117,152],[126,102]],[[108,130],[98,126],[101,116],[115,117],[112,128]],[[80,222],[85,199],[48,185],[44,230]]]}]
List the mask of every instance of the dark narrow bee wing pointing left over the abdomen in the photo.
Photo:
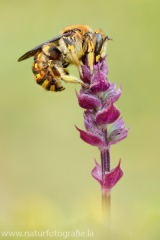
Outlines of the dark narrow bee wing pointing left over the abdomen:
[{"label": "dark narrow bee wing pointing left over the abdomen", "polygon": [[35,48],[31,49],[30,51],[26,52],[22,57],[20,57],[18,59],[18,62],[23,61],[23,60],[25,60],[27,58],[30,58],[30,57],[34,56],[39,50],[42,49],[42,46],[45,45],[45,44],[54,42],[56,45],[58,45],[58,41],[61,39],[61,37],[68,37],[71,34],[72,34],[72,31],[64,33],[62,35],[59,35],[58,37],[52,38],[52,39],[50,39],[50,40],[48,40],[48,41],[38,45],[37,47],[35,47]]}]

